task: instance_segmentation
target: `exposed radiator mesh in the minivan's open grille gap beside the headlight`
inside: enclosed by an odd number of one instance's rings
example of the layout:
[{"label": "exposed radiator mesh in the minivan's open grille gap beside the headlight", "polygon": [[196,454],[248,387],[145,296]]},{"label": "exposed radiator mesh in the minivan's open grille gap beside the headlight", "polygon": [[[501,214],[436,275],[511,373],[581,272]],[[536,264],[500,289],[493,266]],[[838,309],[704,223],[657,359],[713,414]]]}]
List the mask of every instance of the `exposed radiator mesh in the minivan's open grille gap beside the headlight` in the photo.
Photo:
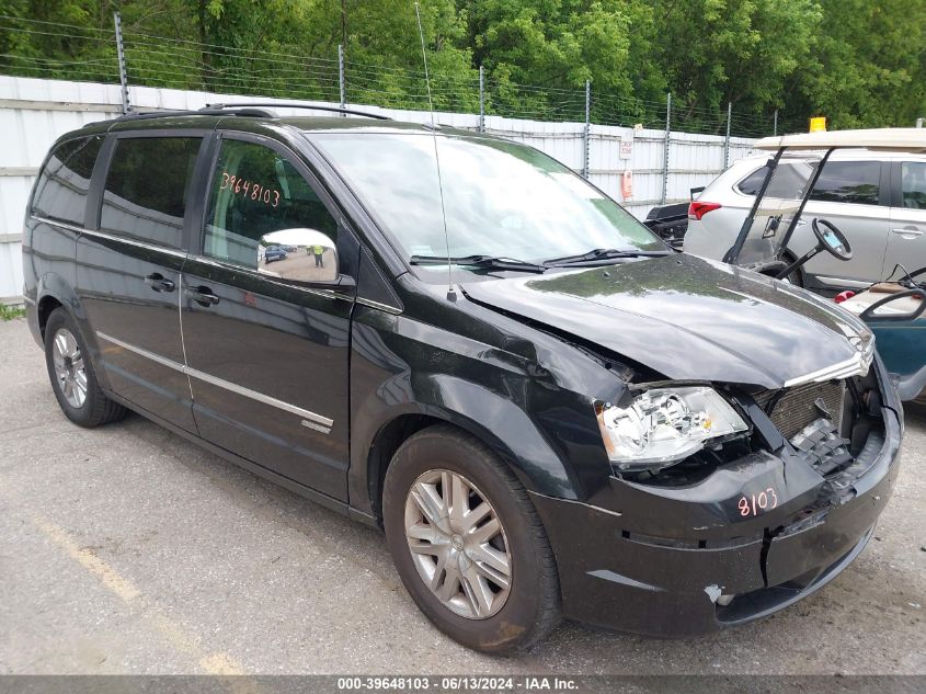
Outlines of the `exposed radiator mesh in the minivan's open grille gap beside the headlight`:
[{"label": "exposed radiator mesh in the minivan's open grille gap beside the headlight", "polygon": [[845,380],[827,380],[785,390],[765,390],[756,396],[755,401],[785,439],[790,440],[811,422],[826,417],[820,406],[830,413],[827,419],[836,425],[836,431],[842,431],[845,395]]}]

